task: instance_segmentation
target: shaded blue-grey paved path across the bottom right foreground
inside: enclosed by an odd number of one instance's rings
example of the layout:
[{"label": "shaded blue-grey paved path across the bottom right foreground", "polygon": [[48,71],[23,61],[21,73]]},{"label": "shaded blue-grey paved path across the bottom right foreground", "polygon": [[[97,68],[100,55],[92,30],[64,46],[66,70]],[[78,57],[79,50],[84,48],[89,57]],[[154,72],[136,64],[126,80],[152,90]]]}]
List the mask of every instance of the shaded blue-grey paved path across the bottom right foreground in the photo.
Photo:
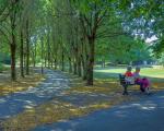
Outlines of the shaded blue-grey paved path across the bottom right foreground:
[{"label": "shaded blue-grey paved path across the bottom right foreground", "polygon": [[164,131],[164,92],[34,131]]}]

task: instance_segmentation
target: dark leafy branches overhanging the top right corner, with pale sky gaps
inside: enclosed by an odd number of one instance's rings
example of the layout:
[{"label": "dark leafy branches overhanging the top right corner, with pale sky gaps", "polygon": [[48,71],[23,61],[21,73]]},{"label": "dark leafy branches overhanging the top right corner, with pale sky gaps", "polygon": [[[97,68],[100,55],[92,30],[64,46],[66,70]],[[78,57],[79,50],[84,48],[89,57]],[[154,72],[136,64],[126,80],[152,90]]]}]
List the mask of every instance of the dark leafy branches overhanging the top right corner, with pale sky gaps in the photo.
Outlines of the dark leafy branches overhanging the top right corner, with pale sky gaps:
[{"label": "dark leafy branches overhanging the top right corner, with pale sky gaps", "polygon": [[[126,0],[124,0],[126,1]],[[124,17],[124,24],[129,31],[144,38],[155,35],[163,35],[164,31],[164,1],[163,0],[133,0],[120,2],[120,14]],[[128,15],[127,15],[128,14]],[[161,36],[159,37],[161,38]]]}]

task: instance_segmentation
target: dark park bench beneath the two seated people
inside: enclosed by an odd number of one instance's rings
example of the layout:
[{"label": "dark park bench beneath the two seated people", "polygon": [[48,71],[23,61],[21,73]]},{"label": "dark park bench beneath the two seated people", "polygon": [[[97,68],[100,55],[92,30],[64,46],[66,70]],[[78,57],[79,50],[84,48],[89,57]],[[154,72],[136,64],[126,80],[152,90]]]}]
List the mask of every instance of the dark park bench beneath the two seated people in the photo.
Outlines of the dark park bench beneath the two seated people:
[{"label": "dark park bench beneath the two seated people", "polygon": [[122,95],[128,95],[128,90],[127,90],[127,87],[129,86],[129,85],[136,85],[136,84],[130,84],[129,82],[126,82],[126,76],[124,75],[124,74],[119,74],[119,83],[120,83],[120,85],[124,87],[124,93],[122,93]]}]

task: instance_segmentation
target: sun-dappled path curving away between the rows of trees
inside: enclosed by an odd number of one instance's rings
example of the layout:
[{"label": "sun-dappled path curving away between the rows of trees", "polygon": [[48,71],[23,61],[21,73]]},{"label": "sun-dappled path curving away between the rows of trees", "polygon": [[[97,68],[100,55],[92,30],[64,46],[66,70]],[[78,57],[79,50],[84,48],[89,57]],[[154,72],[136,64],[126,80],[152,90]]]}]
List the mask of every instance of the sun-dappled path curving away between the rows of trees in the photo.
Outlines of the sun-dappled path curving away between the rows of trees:
[{"label": "sun-dappled path curving away between the rows of trees", "polygon": [[61,92],[69,87],[70,80],[60,71],[46,69],[45,75],[47,79],[38,87],[0,97],[0,120],[61,96]]}]

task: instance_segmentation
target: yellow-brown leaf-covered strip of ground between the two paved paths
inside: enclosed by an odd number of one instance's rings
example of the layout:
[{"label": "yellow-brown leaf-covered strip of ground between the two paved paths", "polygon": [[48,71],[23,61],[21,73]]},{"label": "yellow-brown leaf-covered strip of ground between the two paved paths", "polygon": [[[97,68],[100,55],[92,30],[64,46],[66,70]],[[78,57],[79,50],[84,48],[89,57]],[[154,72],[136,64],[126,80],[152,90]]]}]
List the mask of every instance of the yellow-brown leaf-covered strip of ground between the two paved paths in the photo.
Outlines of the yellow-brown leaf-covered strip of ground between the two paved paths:
[{"label": "yellow-brown leaf-covered strip of ground between the two paved paths", "polygon": [[118,97],[114,99],[106,99],[104,102],[95,100],[85,106],[75,106],[70,103],[59,102],[52,99],[38,107],[27,106],[26,110],[7,119],[2,122],[4,131],[27,131],[37,126],[63,121],[74,117],[82,117],[92,111],[109,108],[118,103],[129,100],[130,97]]}]

